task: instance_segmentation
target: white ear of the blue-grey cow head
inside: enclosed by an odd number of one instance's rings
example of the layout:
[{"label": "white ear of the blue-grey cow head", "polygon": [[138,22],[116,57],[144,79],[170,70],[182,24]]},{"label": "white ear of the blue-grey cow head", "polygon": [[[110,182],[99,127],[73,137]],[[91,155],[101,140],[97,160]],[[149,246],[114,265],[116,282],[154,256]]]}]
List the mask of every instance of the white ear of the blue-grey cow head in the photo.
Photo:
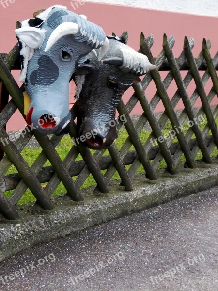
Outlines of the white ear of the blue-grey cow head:
[{"label": "white ear of the blue-grey cow head", "polygon": [[31,26],[18,28],[15,30],[15,33],[31,49],[39,48],[45,37],[45,32]]}]

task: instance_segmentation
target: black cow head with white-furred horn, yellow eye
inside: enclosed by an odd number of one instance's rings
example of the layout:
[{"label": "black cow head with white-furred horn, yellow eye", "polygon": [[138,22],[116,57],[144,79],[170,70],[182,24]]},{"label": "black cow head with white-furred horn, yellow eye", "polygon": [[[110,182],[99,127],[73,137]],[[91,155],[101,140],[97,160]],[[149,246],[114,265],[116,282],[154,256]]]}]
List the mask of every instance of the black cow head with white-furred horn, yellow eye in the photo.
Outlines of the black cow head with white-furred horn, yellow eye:
[{"label": "black cow head with white-furred horn, yellow eye", "polygon": [[115,109],[122,95],[141,81],[139,76],[156,68],[145,55],[126,45],[127,32],[120,38],[108,38],[106,59],[98,62],[95,56],[75,71],[78,75],[74,78],[77,84],[78,135],[88,136],[88,132],[95,132],[95,136],[84,141],[92,149],[106,148],[114,142],[118,136],[114,126]]}]

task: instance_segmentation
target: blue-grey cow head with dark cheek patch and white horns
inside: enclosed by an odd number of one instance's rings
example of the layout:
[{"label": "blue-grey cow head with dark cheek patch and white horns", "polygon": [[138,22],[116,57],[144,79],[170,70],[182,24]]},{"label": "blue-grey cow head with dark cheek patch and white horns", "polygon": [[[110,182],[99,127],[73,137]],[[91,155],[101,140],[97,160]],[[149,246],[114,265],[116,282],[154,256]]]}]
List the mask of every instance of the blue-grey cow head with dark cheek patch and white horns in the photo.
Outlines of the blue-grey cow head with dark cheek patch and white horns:
[{"label": "blue-grey cow head with dark cheek patch and white horns", "polygon": [[20,43],[20,81],[30,97],[27,122],[41,133],[59,133],[69,123],[69,80],[75,64],[89,59],[100,48],[108,50],[102,28],[66,7],[56,5],[16,29]]}]

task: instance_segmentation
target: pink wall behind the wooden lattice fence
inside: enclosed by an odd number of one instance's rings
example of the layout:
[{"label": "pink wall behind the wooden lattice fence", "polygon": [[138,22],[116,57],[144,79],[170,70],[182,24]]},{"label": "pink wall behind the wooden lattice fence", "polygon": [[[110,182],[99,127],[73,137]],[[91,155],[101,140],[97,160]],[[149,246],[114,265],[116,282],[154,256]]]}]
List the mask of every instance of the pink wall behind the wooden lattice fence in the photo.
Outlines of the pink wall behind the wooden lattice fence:
[{"label": "pink wall behind the wooden lattice fence", "polygon": [[[115,32],[120,35],[125,30],[129,33],[129,45],[134,49],[139,49],[140,32],[144,32],[145,36],[150,33],[154,35],[154,45],[152,47],[152,53],[157,56],[162,49],[163,33],[168,36],[174,35],[176,42],[173,48],[175,56],[179,56],[183,49],[184,36],[190,38],[191,36],[195,39],[195,47],[193,49],[194,56],[196,57],[202,47],[202,39],[210,39],[212,42],[211,54],[212,56],[218,50],[218,37],[216,28],[218,27],[218,17],[207,17],[207,16],[193,16],[179,13],[163,12],[157,10],[149,10],[143,8],[133,8],[121,5],[109,5],[100,4],[93,2],[85,2],[84,5],[79,6],[78,9],[73,10],[71,7],[70,0],[11,0],[14,2],[8,7],[4,8],[0,5],[0,51],[9,52],[16,44],[16,37],[14,30],[16,27],[16,21],[22,21],[32,17],[32,13],[38,9],[49,7],[55,4],[61,4],[67,6],[69,10],[72,10],[78,14],[85,14],[88,19],[92,22],[103,27],[106,34],[109,35]],[[14,73],[14,76],[18,77],[18,72]],[[163,72],[162,76],[166,76]],[[21,84],[20,84],[21,85]],[[211,88],[211,82],[208,82],[206,91],[209,92]],[[70,92],[70,103],[74,102],[74,87],[71,85]],[[192,84],[188,87],[188,93],[191,94],[195,86]],[[176,87],[172,84],[168,90],[169,96],[172,97]],[[151,87],[146,91],[149,99],[153,97],[155,93],[155,87]],[[129,89],[125,93],[124,101],[127,102],[131,96],[133,90]],[[217,104],[217,97],[214,98],[213,104]],[[196,103],[197,106],[201,106],[200,100]],[[183,108],[182,102],[179,103],[177,109]],[[156,111],[162,111],[163,105],[159,104]],[[132,111],[132,114],[140,114],[142,109],[140,105],[136,106]],[[7,131],[22,129],[26,125],[25,120],[22,118],[20,113],[16,114],[10,119],[7,124]]]}]

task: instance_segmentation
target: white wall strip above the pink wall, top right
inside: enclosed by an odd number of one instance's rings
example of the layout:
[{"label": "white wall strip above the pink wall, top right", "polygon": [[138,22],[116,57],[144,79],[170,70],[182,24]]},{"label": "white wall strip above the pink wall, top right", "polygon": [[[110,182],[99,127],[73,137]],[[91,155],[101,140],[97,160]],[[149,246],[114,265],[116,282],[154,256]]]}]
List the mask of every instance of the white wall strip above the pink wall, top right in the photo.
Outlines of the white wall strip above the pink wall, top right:
[{"label": "white wall strip above the pink wall, top right", "polygon": [[85,0],[166,10],[197,15],[218,16],[218,0]]}]

